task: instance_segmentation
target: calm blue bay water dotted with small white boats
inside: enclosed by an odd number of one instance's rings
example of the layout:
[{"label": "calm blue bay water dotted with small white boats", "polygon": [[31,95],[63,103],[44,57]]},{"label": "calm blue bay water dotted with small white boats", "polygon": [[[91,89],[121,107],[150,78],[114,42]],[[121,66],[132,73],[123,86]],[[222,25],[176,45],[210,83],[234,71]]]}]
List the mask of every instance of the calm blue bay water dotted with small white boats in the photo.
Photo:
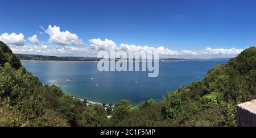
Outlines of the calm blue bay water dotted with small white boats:
[{"label": "calm blue bay water dotted with small white boats", "polygon": [[[138,104],[150,98],[161,101],[167,91],[203,79],[209,69],[226,62],[159,62],[157,78],[148,78],[147,72],[98,72],[97,62],[23,61],[22,64],[42,83],[57,84],[73,96],[103,103],[127,99]],[[67,81],[69,78],[72,80]]]}]

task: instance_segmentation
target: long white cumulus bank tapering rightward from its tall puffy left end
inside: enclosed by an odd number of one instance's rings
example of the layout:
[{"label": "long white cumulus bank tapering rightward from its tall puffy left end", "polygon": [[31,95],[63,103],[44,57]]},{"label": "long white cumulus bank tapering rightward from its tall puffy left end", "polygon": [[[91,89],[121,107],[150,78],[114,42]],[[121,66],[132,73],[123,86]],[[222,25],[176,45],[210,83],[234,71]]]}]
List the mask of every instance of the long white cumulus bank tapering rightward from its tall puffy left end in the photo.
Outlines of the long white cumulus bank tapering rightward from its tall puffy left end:
[{"label": "long white cumulus bank tapering rightward from its tall puffy left end", "polygon": [[172,51],[171,49],[164,48],[163,46],[160,46],[158,48],[156,47],[148,47],[148,46],[137,46],[137,45],[129,45],[129,44],[121,44],[117,46],[114,41],[112,40],[101,40],[101,39],[90,39],[89,42],[91,43],[91,46],[96,51],[106,51],[110,50],[110,48],[114,48],[115,51],[125,51],[125,52],[134,52],[134,53],[140,53],[140,52],[158,52],[159,55],[162,56],[176,56],[176,57],[223,57],[223,56],[236,56],[239,53],[243,51],[243,49],[236,49],[236,48],[230,48],[230,49],[224,49],[224,48],[205,48],[201,51],[191,51],[191,50],[181,50],[181,51]]}]

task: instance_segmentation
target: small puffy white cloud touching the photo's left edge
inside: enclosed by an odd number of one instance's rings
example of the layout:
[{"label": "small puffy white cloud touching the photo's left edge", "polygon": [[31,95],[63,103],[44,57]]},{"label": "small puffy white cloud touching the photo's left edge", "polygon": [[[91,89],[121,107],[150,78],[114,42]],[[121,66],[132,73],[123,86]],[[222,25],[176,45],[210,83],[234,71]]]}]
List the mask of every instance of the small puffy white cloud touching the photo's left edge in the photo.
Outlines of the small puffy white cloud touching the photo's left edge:
[{"label": "small puffy white cloud touching the photo's left edge", "polygon": [[10,35],[8,33],[4,33],[0,36],[0,40],[6,44],[13,44],[18,46],[22,46],[26,43],[26,41],[24,40],[24,35],[22,33],[12,33]]}]

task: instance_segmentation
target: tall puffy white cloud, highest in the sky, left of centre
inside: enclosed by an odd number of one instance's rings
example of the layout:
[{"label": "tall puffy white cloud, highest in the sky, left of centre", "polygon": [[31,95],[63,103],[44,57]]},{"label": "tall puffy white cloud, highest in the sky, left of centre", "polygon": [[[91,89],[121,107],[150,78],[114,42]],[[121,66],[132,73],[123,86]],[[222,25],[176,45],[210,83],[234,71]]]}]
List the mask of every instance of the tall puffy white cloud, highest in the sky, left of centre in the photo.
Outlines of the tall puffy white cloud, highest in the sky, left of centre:
[{"label": "tall puffy white cloud, highest in the sky, left of centre", "polygon": [[56,43],[60,45],[85,45],[76,34],[72,34],[69,31],[61,32],[60,27],[52,27],[51,25],[49,25],[47,30],[44,31],[50,36],[48,40],[50,43]]}]

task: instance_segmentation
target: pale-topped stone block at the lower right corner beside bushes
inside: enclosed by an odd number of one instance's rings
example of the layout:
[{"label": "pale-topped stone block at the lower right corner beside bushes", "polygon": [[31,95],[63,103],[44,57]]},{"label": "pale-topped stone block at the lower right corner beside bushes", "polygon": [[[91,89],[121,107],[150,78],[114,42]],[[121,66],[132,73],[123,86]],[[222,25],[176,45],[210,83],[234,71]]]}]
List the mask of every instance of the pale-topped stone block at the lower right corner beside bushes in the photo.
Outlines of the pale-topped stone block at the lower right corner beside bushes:
[{"label": "pale-topped stone block at the lower right corner beside bushes", "polygon": [[256,100],[238,104],[237,126],[256,127]]}]

